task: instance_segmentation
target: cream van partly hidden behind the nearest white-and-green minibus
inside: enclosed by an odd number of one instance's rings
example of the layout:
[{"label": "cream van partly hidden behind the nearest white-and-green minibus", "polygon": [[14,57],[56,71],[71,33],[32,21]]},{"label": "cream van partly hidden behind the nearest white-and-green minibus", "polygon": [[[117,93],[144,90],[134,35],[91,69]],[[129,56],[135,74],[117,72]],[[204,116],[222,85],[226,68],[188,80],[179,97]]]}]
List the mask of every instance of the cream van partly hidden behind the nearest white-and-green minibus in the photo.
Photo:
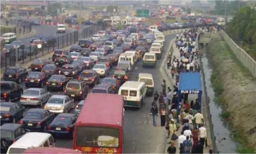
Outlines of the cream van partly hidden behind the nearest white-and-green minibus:
[{"label": "cream van partly hidden behind the nearest white-and-green minibus", "polygon": [[139,73],[138,81],[145,82],[147,90],[146,94],[152,96],[154,94],[154,78],[150,73]]}]

